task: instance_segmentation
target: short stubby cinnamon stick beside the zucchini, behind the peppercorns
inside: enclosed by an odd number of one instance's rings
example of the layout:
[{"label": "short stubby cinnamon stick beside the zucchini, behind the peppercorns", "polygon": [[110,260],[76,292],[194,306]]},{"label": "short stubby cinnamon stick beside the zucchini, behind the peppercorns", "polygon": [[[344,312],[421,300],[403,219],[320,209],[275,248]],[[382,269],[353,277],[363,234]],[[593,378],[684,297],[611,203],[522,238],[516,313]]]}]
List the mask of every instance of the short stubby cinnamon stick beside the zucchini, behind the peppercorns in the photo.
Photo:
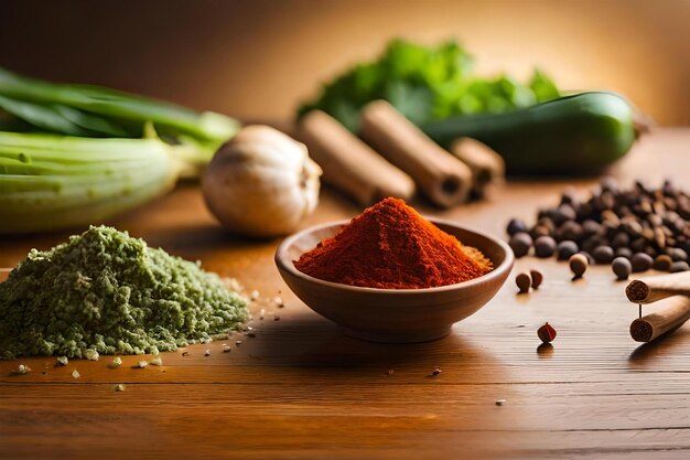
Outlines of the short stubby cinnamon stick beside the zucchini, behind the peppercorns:
[{"label": "short stubby cinnamon stick beside the zucchini, behind the peppercorns", "polygon": [[489,184],[505,180],[506,162],[486,143],[472,138],[459,138],[451,145],[450,152],[470,167],[472,193],[475,196],[484,196]]}]

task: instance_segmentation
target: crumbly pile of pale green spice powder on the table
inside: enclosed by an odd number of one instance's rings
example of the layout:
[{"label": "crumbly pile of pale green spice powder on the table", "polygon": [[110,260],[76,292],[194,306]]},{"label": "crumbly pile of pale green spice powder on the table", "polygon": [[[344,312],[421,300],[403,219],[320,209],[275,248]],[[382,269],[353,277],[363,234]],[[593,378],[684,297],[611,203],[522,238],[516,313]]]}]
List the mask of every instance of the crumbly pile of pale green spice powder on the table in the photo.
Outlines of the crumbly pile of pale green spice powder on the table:
[{"label": "crumbly pile of pale green spice powder on the table", "polygon": [[0,284],[0,359],[172,351],[237,329],[247,303],[198,265],[110,227],[32,249]]}]

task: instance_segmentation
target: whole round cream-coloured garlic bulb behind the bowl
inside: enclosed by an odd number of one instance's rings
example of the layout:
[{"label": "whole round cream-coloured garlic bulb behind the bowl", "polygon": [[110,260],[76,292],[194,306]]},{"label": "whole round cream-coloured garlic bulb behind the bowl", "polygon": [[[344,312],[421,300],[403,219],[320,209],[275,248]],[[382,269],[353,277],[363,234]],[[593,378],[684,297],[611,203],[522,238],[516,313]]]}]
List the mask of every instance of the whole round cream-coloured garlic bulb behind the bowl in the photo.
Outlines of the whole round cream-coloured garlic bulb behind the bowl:
[{"label": "whole round cream-coloured garlic bulb behind the bowl", "polygon": [[303,143],[255,125],[220,147],[204,172],[202,190],[226,228],[269,237],[291,233],[314,211],[320,175]]}]

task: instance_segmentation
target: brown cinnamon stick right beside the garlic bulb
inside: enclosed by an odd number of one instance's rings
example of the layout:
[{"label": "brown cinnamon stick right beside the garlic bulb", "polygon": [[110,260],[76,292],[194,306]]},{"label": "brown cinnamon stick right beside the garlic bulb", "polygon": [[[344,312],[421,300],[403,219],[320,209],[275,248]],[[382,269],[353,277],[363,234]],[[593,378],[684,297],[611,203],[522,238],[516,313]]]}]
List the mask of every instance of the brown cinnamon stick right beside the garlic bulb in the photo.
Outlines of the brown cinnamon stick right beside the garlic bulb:
[{"label": "brown cinnamon stick right beside the garlic bulb", "polygon": [[368,205],[395,196],[409,200],[414,181],[324,111],[312,110],[299,122],[298,137],[323,170],[324,182]]}]

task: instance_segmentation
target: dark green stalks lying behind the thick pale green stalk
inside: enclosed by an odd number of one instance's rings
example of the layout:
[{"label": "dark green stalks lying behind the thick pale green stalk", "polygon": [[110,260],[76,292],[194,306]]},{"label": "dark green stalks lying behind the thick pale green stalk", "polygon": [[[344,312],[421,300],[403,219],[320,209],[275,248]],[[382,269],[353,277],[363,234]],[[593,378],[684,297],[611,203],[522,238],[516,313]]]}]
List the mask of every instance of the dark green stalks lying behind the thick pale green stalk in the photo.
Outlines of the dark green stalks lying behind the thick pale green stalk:
[{"label": "dark green stalks lying behind the thick pale green stalk", "polygon": [[187,161],[208,162],[239,129],[225,115],[197,113],[174,104],[115,89],[56,84],[0,68],[0,110],[30,129],[66,136],[140,138],[147,124],[169,143],[186,145]]}]

